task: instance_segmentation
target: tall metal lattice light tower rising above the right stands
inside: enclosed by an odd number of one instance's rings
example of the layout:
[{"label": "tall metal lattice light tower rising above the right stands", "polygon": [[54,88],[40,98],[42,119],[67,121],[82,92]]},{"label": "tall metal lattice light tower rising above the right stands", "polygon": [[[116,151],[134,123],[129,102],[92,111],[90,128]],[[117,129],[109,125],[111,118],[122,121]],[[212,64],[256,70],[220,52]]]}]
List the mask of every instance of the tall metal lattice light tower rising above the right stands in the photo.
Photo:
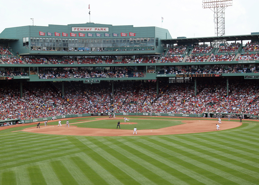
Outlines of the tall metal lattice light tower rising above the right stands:
[{"label": "tall metal lattice light tower rising above the right stands", "polygon": [[[214,12],[215,36],[225,36],[225,9],[233,5],[233,0],[202,0],[202,8],[210,8]],[[214,40],[214,47],[225,44],[226,40]]]}]

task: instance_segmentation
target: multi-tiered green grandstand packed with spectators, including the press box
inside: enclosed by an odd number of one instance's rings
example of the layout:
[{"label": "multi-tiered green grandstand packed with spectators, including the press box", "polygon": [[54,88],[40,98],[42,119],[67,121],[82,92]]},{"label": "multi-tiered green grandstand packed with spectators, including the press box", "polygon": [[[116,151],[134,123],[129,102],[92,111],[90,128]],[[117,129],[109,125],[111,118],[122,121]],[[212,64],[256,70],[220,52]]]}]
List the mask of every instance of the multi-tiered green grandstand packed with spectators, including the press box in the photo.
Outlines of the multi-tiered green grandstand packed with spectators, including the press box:
[{"label": "multi-tiered green grandstand packed with spectators, including the press box", "polygon": [[81,26],[121,34],[54,37],[37,26],[22,27],[21,36],[14,28],[0,33],[1,120],[111,112],[258,116],[257,33],[226,36],[217,46],[211,38],[172,39],[156,27]]}]

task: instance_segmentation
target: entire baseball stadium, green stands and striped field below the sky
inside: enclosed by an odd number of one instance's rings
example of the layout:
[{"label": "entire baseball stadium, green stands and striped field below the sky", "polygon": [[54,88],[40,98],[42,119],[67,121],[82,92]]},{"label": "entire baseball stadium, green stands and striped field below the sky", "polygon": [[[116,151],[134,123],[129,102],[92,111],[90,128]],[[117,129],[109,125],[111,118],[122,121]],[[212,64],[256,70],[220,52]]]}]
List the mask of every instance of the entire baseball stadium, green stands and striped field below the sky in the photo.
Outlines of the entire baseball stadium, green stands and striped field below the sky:
[{"label": "entire baseball stadium, green stands and striped field below the sky", "polygon": [[0,184],[259,184],[259,32],[21,26],[0,53]]}]

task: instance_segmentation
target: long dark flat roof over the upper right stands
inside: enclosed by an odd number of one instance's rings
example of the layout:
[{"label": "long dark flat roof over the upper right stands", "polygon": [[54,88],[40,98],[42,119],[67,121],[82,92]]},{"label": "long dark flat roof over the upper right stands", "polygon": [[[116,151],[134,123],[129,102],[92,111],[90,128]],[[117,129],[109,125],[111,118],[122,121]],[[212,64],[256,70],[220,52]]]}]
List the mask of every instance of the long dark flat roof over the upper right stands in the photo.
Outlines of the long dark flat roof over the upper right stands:
[{"label": "long dark flat roof over the upper right stands", "polygon": [[259,34],[255,35],[233,35],[233,36],[220,36],[220,37],[199,37],[199,38],[177,38],[177,39],[161,39],[165,44],[177,44],[178,42],[213,42],[214,40],[252,40],[258,39]]}]

